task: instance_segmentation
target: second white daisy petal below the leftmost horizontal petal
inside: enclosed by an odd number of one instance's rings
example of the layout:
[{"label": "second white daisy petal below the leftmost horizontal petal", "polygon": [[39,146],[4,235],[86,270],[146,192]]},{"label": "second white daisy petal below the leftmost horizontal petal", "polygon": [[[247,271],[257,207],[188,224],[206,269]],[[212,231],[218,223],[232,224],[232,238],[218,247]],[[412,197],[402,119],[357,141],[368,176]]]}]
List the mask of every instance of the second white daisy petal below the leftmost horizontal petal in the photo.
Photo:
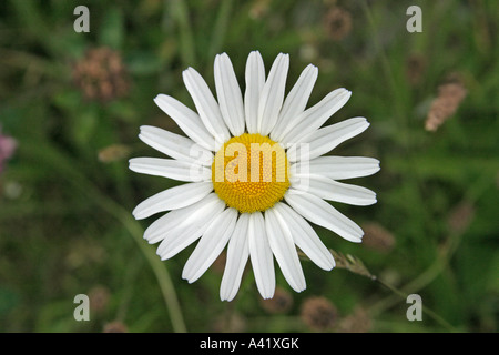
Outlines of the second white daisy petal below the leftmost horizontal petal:
[{"label": "second white daisy petal below the leftmost horizontal petal", "polygon": [[215,209],[216,205],[224,207],[225,203],[213,192],[190,206],[170,211],[151,223],[144,232],[144,239],[150,244],[154,244],[169,234],[180,234],[186,226],[193,225],[203,213]]}]

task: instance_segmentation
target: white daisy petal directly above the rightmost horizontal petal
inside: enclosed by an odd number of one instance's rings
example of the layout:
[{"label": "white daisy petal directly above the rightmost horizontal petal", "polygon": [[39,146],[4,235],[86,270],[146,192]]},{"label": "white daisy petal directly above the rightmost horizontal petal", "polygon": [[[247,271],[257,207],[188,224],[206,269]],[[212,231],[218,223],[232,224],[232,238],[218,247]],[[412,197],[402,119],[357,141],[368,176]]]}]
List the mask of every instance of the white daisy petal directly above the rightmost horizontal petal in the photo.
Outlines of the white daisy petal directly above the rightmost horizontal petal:
[{"label": "white daisy petal directly above the rightmost horizontal petal", "polygon": [[[330,150],[335,149],[340,143],[346,140],[360,134],[369,126],[369,122],[365,118],[354,118],[345,120],[339,123],[335,123],[323,129],[319,129],[310,134],[308,134],[303,142],[294,144],[288,149],[287,159],[291,162],[297,160],[308,159],[312,160],[319,155],[323,155]],[[298,156],[295,146],[301,146],[307,144],[308,154],[307,156]],[[303,155],[303,154],[301,154]]]}]

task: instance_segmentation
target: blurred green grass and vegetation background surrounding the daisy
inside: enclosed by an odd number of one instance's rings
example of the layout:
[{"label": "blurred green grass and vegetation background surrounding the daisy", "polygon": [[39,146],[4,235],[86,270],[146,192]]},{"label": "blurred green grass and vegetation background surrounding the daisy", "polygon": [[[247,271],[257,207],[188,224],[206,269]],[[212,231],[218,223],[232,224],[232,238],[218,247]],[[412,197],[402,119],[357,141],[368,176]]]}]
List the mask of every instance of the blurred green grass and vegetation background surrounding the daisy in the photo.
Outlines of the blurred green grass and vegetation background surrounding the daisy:
[{"label": "blurred green grass and vegetation background surrounding the daisy", "polygon": [[[89,33],[73,30],[80,4]],[[413,4],[420,33],[406,30]],[[497,332],[498,23],[493,0],[1,1],[0,331]],[[329,273],[304,260],[305,292],[277,272],[262,302],[249,271],[222,303],[223,260],[189,285],[193,246],[160,262],[142,240],[153,219],[132,209],[175,182],[132,173],[128,159],[156,154],[140,125],[179,131],[157,93],[193,108],[182,70],[213,89],[214,55],[227,52],[244,85],[252,50],[267,70],[291,54],[288,89],[317,65],[310,104],[353,91],[329,123],[371,125],[334,154],[381,161],[355,181],[378,203],[338,204],[363,244],[316,227],[342,255]],[[421,322],[406,318],[413,293]],[[77,294],[90,322],[73,318]]]}]

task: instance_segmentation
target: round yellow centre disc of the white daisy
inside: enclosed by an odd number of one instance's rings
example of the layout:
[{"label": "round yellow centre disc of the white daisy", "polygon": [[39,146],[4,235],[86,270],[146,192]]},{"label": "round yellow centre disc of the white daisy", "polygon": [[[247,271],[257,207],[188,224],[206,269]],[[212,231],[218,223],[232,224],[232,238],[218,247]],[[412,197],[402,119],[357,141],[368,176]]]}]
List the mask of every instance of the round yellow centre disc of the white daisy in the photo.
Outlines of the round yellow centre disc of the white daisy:
[{"label": "round yellow centre disc of the white daisy", "polygon": [[265,211],[289,187],[286,152],[268,136],[234,136],[216,152],[212,181],[230,207],[241,213]]}]

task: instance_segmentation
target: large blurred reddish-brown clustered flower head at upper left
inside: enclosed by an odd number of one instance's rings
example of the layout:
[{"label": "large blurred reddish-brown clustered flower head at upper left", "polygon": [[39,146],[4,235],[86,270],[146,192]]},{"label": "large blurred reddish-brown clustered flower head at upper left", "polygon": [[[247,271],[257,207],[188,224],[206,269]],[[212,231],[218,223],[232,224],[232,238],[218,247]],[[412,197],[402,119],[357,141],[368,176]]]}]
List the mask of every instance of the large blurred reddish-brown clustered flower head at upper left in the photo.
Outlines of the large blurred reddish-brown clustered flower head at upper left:
[{"label": "large blurred reddish-brown clustered flower head at upper left", "polygon": [[121,55],[108,47],[86,51],[73,67],[73,81],[86,99],[101,102],[122,98],[130,89]]}]

